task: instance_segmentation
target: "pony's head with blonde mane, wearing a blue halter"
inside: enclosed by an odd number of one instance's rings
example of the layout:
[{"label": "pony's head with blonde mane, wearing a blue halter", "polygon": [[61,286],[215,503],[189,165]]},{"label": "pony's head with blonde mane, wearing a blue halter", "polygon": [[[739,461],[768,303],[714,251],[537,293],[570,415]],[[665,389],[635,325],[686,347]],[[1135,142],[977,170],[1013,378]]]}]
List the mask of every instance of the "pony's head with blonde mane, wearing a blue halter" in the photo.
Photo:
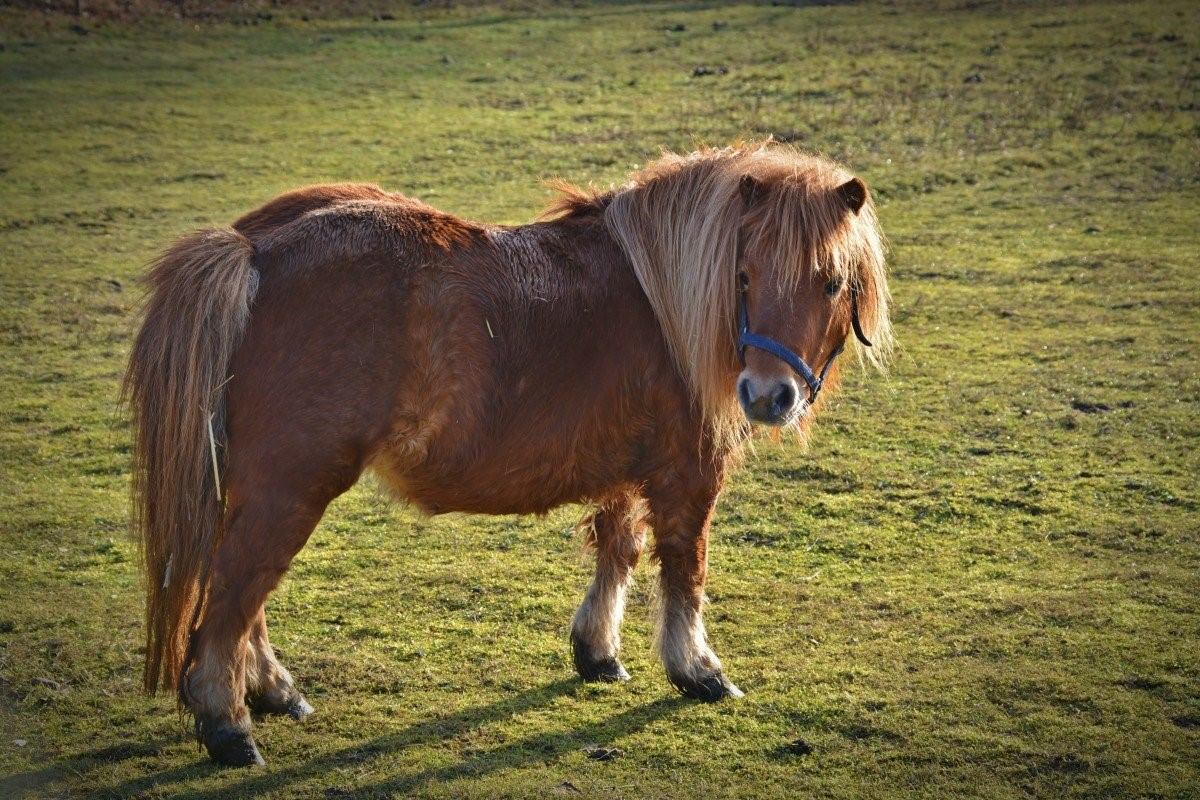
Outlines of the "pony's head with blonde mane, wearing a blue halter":
[{"label": "pony's head with blonde mane, wearing a blue halter", "polygon": [[748,422],[803,428],[821,395],[797,360],[826,373],[816,387],[828,392],[856,314],[871,343],[852,344],[859,356],[882,367],[890,354],[875,207],[826,158],[769,140],[666,154],[613,194],[605,219],[720,440]]}]

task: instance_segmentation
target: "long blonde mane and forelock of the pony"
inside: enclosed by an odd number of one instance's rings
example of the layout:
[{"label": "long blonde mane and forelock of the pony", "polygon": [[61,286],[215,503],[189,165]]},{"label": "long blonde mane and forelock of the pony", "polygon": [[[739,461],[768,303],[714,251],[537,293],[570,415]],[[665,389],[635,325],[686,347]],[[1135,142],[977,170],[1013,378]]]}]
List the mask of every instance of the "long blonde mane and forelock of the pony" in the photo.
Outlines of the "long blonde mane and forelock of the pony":
[{"label": "long blonde mane and forelock of the pony", "polygon": [[[748,211],[739,185],[767,188]],[[811,271],[858,289],[871,349],[882,368],[893,348],[883,237],[870,199],[850,213],[836,188],[851,179],[838,164],[773,142],[665,154],[616,191],[605,222],[620,242],[654,308],[676,365],[719,441],[740,437],[733,391],[738,236],[775,253],[779,291]],[[583,193],[576,196],[584,200]]]}]

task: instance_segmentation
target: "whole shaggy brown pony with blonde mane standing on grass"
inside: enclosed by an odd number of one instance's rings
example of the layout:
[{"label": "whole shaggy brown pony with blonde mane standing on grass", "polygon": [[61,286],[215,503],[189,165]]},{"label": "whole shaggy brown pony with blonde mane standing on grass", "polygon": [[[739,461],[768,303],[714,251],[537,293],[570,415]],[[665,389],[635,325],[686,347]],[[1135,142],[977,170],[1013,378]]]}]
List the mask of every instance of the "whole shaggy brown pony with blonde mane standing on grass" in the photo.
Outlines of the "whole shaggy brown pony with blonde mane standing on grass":
[{"label": "whole shaggy brown pony with blonde mane standing on grass", "polygon": [[145,687],[178,690],[216,760],[262,763],[251,710],[312,711],[263,606],[368,468],[428,513],[592,504],[596,572],[571,627],[584,680],[629,678],[618,626],[652,529],[671,682],[740,696],[701,620],[713,507],[750,420],[812,417],[816,391],[762,341],[820,368],[853,326],[886,356],[872,204],[838,166],[769,142],[560,188],[541,221],[506,228],[314,186],[154,264],[125,379]]}]

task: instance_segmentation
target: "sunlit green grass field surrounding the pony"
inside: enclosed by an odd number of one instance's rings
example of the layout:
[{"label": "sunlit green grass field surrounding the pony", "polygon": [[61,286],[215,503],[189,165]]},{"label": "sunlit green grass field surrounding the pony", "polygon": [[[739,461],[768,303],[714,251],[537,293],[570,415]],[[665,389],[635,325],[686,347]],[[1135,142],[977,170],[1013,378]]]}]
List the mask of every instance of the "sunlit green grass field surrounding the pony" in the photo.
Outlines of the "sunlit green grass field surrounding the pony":
[{"label": "sunlit green grass field surrounding the pony", "polygon": [[[0,795],[1200,796],[1200,7],[246,20],[0,8]],[[746,698],[667,686],[649,565],[634,681],[574,679],[580,509],[362,485],[269,606],[318,714],[210,765],[138,691],[140,265],[301,184],[522,222],[539,179],[767,133],[872,186],[902,350],[722,498],[708,621]]]}]

